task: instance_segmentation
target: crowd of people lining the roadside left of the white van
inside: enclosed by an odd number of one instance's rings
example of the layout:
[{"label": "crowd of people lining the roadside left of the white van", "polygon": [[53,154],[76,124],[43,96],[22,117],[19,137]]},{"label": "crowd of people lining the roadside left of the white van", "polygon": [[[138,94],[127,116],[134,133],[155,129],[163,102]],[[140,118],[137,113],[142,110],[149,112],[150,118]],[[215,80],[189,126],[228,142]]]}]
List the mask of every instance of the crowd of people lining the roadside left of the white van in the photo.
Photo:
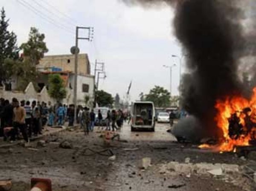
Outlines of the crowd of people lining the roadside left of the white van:
[{"label": "crowd of people lining the roadside left of the white van", "polygon": [[[122,127],[123,122],[128,119],[126,113],[122,110],[108,111],[108,114],[103,118],[101,110],[97,113],[88,107],[79,106],[76,110],[77,123],[81,124],[85,134],[93,131],[94,125],[97,122],[99,128],[115,131]],[[74,104],[69,106],[61,103],[52,105],[42,101],[18,101],[17,98],[8,99],[0,98],[0,136],[4,141],[15,141],[20,139],[22,134],[23,139],[29,142],[32,136],[42,134],[42,129],[47,126],[62,126],[68,122],[68,126],[74,125],[75,107]]]}]

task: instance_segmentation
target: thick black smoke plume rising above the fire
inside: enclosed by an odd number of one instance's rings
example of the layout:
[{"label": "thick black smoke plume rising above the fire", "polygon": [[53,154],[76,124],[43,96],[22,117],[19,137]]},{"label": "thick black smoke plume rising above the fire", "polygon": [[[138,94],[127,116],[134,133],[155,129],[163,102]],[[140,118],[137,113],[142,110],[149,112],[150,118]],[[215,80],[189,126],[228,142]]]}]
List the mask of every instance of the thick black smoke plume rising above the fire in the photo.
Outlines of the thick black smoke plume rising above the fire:
[{"label": "thick black smoke plume rising above the fire", "polygon": [[183,46],[186,74],[183,107],[201,122],[204,134],[220,136],[214,117],[217,99],[242,94],[238,77],[244,52],[239,0],[122,0],[129,5],[175,7],[175,35]]}]

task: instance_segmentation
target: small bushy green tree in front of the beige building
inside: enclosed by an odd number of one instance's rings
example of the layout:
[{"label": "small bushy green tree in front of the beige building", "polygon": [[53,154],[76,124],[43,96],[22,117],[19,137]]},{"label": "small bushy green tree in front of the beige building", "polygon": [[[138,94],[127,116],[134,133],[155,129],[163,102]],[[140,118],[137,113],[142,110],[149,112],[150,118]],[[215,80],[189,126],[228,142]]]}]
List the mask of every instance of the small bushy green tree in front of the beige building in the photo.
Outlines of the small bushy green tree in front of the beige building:
[{"label": "small bushy green tree in front of the beige building", "polygon": [[64,80],[59,74],[49,75],[49,95],[57,101],[66,98],[67,91],[64,87]]}]

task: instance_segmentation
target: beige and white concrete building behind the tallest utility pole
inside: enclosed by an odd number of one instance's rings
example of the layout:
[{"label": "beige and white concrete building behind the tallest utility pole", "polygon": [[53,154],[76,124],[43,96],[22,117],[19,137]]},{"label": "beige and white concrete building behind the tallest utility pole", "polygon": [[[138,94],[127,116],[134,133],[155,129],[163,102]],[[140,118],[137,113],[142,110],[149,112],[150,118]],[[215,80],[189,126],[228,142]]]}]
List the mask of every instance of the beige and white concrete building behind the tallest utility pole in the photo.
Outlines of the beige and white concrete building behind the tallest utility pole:
[{"label": "beige and white concrete building behind the tallest utility pole", "polygon": [[[74,55],[50,55],[41,59],[37,68],[42,77],[38,79],[41,89],[48,84],[48,75],[58,73],[64,80],[67,98],[63,100],[66,104],[73,103],[73,92],[75,86],[75,56]],[[87,54],[78,56],[77,77],[77,104],[85,105],[85,97],[89,97],[87,104],[92,105],[94,101],[95,78],[90,75],[90,62]]]}]

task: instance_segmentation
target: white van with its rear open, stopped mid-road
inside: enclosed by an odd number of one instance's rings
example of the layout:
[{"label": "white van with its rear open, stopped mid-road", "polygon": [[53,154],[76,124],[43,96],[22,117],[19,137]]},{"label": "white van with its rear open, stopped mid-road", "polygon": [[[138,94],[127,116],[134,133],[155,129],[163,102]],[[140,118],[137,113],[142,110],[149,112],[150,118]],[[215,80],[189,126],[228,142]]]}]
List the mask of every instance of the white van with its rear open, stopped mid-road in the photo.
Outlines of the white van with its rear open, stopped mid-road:
[{"label": "white van with its rear open, stopped mid-road", "polygon": [[151,101],[136,101],[131,107],[131,131],[135,129],[151,129],[155,127],[154,103]]}]

